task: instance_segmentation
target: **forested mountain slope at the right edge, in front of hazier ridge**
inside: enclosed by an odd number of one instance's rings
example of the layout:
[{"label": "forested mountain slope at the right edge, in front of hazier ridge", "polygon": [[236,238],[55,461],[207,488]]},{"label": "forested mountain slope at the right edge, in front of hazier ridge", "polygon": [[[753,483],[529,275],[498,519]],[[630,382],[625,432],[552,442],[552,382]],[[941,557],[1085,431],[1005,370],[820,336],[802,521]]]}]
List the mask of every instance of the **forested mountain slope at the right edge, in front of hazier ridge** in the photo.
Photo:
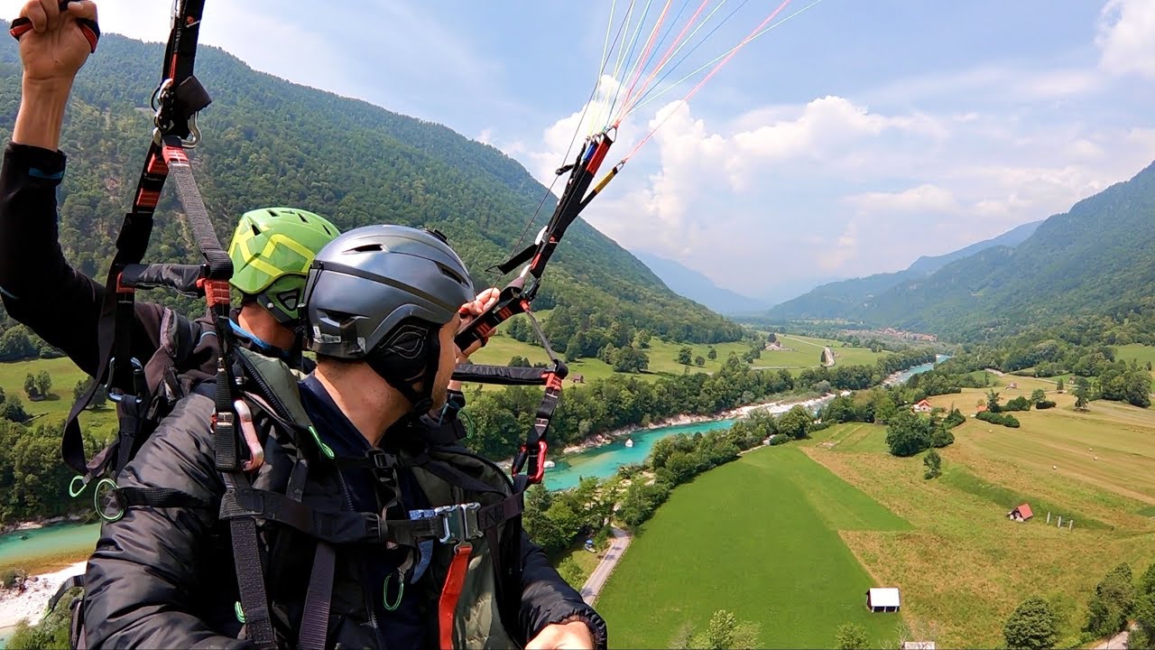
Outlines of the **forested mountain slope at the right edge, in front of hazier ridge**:
[{"label": "forested mountain slope at the right edge, in front of hazier ridge", "polygon": [[1126,313],[1155,286],[1155,164],[996,246],[878,296],[872,323],[975,338],[1079,313]]}]

